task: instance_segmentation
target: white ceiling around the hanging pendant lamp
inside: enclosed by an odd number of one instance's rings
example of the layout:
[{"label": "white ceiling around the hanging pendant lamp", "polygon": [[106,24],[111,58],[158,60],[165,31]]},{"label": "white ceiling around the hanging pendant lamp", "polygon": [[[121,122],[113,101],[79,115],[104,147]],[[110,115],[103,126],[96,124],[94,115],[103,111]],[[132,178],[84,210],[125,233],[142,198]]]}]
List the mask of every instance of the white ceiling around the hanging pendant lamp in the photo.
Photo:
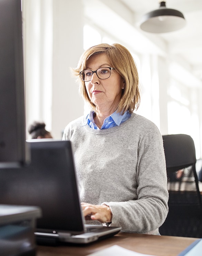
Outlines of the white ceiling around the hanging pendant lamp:
[{"label": "white ceiling around the hanging pendant lamp", "polygon": [[[158,0],[119,1],[134,13],[137,29],[140,29],[139,21],[142,15],[159,7]],[[155,37],[165,40],[169,53],[184,60],[184,63],[191,67],[192,73],[202,80],[202,0],[167,0],[166,7],[181,11],[186,26],[178,31],[155,34]]]}]

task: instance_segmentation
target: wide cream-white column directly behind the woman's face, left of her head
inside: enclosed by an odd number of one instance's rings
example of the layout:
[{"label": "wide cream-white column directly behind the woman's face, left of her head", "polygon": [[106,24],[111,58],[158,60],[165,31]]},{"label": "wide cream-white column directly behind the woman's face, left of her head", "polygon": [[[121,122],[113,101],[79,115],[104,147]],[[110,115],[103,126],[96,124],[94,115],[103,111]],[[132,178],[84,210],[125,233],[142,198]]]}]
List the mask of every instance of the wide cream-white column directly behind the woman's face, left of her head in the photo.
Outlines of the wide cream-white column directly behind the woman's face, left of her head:
[{"label": "wide cream-white column directly behind the woman's face, left of her head", "polygon": [[84,113],[69,70],[83,53],[82,1],[54,0],[53,10],[52,134],[59,139],[65,126]]}]

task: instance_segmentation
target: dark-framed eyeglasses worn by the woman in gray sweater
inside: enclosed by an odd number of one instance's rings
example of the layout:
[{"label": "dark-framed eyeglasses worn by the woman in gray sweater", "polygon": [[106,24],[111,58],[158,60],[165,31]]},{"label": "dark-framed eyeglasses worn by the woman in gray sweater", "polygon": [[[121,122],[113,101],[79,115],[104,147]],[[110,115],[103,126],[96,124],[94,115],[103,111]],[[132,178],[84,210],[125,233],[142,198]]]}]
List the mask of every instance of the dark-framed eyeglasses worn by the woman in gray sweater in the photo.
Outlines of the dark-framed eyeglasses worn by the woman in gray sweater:
[{"label": "dark-framed eyeglasses worn by the woman in gray sweater", "polygon": [[81,79],[84,82],[89,82],[92,79],[93,73],[96,73],[96,75],[98,76],[99,79],[107,79],[110,77],[111,75],[111,70],[115,69],[115,68],[111,68],[111,67],[102,67],[102,68],[98,68],[97,70],[93,71],[90,69],[86,69],[83,70],[81,72],[79,72]]}]

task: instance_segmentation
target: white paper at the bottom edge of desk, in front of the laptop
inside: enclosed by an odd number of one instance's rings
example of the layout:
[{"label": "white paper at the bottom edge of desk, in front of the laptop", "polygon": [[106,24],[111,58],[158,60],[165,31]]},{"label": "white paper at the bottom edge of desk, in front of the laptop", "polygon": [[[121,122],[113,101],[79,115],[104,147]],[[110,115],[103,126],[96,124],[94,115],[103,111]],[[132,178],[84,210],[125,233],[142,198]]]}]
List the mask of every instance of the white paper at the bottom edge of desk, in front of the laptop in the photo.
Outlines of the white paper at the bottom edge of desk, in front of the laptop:
[{"label": "white paper at the bottom edge of desk, in front of the laptop", "polygon": [[153,256],[148,254],[136,253],[131,250],[125,249],[118,245],[113,245],[99,252],[89,254],[87,256]]}]

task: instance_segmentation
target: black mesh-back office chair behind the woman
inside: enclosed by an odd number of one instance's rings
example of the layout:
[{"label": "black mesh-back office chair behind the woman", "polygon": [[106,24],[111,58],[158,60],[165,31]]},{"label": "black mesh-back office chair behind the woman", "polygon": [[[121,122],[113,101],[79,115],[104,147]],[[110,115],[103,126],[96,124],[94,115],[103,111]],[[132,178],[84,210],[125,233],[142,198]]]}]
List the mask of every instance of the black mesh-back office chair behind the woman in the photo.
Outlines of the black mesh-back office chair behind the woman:
[{"label": "black mesh-back office chair behind the woman", "polygon": [[169,213],[161,235],[202,238],[202,200],[196,174],[195,146],[186,134],[163,135]]}]

